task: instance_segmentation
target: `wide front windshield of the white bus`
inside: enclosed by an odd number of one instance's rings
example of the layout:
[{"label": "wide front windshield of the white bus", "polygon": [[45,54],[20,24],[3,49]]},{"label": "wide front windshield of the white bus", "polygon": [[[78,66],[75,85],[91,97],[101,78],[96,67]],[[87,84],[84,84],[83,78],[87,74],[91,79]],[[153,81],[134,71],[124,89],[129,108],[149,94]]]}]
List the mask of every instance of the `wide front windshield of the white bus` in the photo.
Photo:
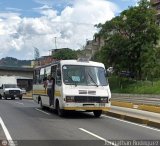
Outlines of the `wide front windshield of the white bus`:
[{"label": "wide front windshield of the white bus", "polygon": [[63,81],[67,85],[107,86],[105,69],[94,66],[64,65]]}]

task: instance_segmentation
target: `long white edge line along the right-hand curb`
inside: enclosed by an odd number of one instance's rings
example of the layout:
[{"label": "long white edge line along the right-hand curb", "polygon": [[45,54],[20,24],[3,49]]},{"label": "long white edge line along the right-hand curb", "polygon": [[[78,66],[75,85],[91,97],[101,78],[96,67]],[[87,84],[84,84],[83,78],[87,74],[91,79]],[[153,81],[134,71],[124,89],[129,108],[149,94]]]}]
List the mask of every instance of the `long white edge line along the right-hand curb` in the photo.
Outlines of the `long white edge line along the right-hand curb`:
[{"label": "long white edge line along the right-hand curb", "polygon": [[136,125],[136,126],[140,126],[140,127],[143,127],[143,128],[147,128],[147,129],[151,129],[151,130],[155,130],[155,131],[160,132],[160,129],[152,128],[152,127],[149,127],[149,126],[140,125],[140,124],[137,124],[137,123],[133,123],[133,122],[129,122],[129,121],[125,121],[125,120],[121,120],[121,119],[117,119],[117,118],[110,117],[110,116],[105,116],[105,115],[102,115],[102,117],[106,117],[106,118],[114,119],[114,120],[117,120],[117,121],[121,121],[121,122],[129,123],[129,124],[132,124],[132,125]]}]

